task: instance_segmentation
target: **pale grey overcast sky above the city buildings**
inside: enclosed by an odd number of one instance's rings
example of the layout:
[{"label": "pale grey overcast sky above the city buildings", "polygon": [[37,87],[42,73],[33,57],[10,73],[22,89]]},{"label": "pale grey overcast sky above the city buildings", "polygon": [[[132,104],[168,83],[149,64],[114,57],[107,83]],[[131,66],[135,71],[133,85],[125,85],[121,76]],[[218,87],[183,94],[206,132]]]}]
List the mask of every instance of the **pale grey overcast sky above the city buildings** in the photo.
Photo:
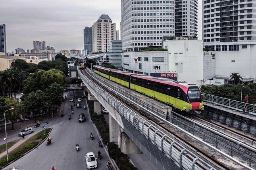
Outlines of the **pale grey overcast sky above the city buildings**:
[{"label": "pale grey overcast sky above the city buildings", "polygon": [[[6,25],[8,52],[17,48],[27,52],[33,49],[33,41],[45,41],[56,52],[82,50],[83,29],[92,26],[102,14],[109,15],[120,34],[121,0],[0,1],[0,24]],[[202,0],[198,0],[200,3]]]}]

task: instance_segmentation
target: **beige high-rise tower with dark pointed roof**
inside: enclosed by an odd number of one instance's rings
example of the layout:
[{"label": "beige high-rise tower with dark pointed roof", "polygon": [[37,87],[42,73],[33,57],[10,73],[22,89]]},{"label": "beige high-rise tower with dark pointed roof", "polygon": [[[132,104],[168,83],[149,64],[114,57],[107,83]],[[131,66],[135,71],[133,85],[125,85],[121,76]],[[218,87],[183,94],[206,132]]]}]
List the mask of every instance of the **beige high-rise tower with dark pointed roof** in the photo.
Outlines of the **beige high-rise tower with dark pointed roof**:
[{"label": "beige high-rise tower with dark pointed roof", "polygon": [[92,49],[94,53],[108,52],[110,40],[115,40],[115,23],[108,15],[102,14],[92,25]]}]

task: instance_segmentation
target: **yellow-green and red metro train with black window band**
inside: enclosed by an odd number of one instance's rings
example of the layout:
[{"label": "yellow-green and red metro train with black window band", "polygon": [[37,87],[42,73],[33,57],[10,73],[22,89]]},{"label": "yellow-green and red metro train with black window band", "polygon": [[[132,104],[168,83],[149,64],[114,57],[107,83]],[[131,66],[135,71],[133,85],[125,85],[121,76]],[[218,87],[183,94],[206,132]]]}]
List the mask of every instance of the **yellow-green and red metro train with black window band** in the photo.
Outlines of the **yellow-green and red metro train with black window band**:
[{"label": "yellow-green and red metro train with black window band", "polygon": [[151,77],[94,66],[94,72],[129,89],[155,98],[181,111],[204,110],[200,88],[195,83],[180,83],[162,77]]}]

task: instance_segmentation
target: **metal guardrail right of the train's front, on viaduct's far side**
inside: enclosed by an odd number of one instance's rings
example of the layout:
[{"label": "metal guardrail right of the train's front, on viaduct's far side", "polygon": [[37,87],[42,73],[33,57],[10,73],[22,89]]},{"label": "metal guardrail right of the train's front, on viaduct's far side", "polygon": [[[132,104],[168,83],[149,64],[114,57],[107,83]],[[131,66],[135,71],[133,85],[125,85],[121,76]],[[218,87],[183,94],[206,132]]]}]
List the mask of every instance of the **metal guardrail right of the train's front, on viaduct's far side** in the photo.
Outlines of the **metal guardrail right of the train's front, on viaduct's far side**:
[{"label": "metal guardrail right of the train's front, on viaduct's far side", "polygon": [[239,102],[236,100],[231,100],[223,97],[214,96],[211,94],[204,93],[204,102],[209,102],[211,104],[216,104],[218,106],[223,106],[237,111],[244,111],[246,106],[246,113],[256,116],[256,105],[248,104],[244,102]]}]

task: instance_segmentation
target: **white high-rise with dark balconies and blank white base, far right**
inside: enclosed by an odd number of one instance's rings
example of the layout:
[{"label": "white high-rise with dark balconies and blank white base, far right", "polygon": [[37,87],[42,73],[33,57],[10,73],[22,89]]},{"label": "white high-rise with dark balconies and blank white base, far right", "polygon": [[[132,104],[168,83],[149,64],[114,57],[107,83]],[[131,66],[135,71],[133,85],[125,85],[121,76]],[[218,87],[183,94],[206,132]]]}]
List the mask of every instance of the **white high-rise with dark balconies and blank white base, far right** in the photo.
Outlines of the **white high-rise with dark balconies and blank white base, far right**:
[{"label": "white high-rise with dark balconies and blank white base, far right", "polygon": [[203,1],[203,42],[216,50],[216,77],[226,83],[234,72],[255,81],[255,23],[255,0]]}]

